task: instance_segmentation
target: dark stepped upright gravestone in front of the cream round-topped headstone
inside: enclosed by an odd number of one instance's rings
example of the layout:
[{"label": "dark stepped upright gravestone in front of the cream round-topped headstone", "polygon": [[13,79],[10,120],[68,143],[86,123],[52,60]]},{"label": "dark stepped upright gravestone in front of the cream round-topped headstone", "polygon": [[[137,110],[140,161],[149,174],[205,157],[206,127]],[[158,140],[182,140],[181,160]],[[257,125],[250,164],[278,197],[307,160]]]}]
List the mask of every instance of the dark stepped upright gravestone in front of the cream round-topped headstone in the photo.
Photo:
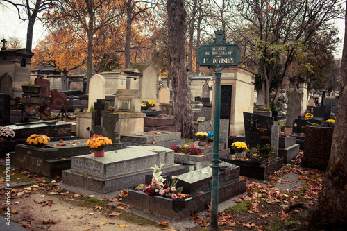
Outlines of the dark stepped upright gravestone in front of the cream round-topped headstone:
[{"label": "dark stepped upright gravestone in front of the cream round-topped headstone", "polygon": [[97,99],[94,103],[92,112],[92,128],[90,136],[94,134],[103,135],[112,140],[119,142],[119,114],[109,113],[108,104],[105,99]]}]

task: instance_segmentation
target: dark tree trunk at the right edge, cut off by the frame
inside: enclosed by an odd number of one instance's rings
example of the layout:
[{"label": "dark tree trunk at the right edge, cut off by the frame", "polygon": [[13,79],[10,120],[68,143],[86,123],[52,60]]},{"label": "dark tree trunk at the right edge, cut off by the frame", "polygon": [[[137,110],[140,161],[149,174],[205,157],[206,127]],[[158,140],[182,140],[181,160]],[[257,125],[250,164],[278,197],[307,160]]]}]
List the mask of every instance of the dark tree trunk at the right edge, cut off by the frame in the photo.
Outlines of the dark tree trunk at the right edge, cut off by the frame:
[{"label": "dark tree trunk at the right edge, cut off by the frame", "polygon": [[[346,3],[347,4],[347,3]],[[345,28],[347,27],[347,12]],[[308,221],[309,228],[346,230],[347,227],[347,31],[341,61],[341,86],[337,116],[332,135],[332,147],[323,187],[314,211]]]}]

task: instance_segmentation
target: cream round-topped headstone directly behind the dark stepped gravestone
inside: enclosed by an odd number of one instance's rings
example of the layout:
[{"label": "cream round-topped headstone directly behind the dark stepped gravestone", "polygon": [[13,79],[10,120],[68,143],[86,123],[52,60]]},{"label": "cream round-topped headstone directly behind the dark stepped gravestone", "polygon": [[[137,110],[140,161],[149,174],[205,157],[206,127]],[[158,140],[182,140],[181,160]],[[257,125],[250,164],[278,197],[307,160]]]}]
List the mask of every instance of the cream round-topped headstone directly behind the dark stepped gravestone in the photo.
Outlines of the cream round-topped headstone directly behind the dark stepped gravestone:
[{"label": "cream round-topped headstone directly behind the dark stepped gravestone", "polygon": [[105,78],[99,74],[95,74],[90,78],[88,92],[88,112],[97,99],[105,99]]}]

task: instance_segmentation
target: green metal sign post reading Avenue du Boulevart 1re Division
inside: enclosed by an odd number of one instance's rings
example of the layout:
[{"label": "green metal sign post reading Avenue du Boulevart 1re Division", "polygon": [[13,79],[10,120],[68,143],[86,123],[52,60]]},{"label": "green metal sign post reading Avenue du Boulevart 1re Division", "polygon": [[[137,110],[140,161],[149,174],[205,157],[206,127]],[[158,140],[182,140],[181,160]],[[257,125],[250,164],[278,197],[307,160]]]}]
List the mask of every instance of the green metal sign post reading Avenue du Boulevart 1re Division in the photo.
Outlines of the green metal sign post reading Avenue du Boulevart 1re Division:
[{"label": "green metal sign post reading Avenue du Boulevart 1re Division", "polygon": [[214,69],[214,142],[212,157],[211,219],[209,230],[218,230],[218,173],[219,173],[219,121],[221,119],[221,67],[237,66],[241,62],[241,49],[225,41],[224,31],[214,31],[214,42],[198,48],[200,66]]}]

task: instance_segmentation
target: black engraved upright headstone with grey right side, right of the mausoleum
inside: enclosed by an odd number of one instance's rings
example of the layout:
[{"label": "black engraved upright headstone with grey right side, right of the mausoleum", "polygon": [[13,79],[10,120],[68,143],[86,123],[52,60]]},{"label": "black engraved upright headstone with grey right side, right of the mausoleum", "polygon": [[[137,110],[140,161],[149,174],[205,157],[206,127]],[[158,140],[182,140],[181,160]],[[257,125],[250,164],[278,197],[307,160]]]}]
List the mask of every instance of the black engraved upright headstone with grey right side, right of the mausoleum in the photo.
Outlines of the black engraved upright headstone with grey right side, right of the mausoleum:
[{"label": "black engraved upright headstone with grey right side, right of the mausoleum", "polygon": [[278,152],[280,126],[273,121],[273,117],[244,112],[244,132],[249,146],[270,144]]}]

